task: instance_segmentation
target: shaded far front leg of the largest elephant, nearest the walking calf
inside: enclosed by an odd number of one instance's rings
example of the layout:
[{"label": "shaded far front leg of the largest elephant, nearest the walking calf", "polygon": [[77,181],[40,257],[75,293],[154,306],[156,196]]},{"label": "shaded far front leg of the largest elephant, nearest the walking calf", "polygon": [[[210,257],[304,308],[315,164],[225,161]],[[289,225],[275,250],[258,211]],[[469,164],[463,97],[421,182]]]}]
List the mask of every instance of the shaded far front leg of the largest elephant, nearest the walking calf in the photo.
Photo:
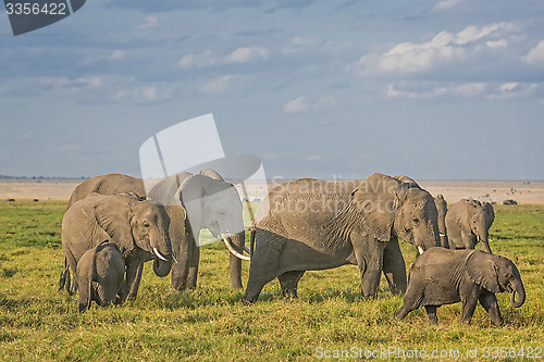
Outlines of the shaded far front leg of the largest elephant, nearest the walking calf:
[{"label": "shaded far front leg of the largest elephant, nearest the walking calf", "polygon": [[404,295],[406,292],[406,264],[396,237],[387,242],[383,251],[383,274],[392,294]]}]

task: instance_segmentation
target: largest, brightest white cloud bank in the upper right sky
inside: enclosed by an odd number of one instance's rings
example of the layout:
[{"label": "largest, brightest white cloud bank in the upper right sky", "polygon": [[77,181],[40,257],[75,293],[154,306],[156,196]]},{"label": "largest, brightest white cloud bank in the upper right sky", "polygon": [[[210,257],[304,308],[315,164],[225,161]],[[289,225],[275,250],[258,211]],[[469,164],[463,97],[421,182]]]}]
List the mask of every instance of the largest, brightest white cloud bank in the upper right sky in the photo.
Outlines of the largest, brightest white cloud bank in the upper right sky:
[{"label": "largest, brightest white cloud bank in the upper right sky", "polygon": [[366,54],[348,64],[347,71],[359,76],[422,73],[468,60],[485,50],[504,48],[517,33],[516,26],[505,22],[471,25],[455,34],[444,30],[425,42],[401,42],[383,54]]}]

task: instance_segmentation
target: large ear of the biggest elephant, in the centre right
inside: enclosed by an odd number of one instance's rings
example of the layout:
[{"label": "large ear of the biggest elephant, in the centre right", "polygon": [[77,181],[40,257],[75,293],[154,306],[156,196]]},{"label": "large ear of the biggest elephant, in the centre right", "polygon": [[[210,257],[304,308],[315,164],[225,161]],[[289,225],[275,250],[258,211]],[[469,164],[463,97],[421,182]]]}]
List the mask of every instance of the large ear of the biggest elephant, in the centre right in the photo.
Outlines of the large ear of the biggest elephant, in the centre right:
[{"label": "large ear of the biggest elephant, in the centre right", "polygon": [[401,184],[393,177],[372,174],[351,192],[351,201],[370,234],[381,241],[391,239]]}]

